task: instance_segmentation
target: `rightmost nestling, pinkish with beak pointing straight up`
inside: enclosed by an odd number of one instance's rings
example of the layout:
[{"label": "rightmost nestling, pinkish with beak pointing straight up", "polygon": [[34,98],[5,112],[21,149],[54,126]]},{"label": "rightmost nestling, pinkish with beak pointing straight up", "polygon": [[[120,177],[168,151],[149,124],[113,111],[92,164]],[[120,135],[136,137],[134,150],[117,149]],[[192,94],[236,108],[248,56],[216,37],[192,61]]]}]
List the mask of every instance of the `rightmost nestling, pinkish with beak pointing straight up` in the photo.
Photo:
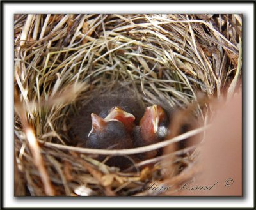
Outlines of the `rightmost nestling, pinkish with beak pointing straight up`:
[{"label": "rightmost nestling, pinkish with beak pointing straight up", "polygon": [[[134,147],[147,146],[164,140],[168,134],[169,119],[160,105],[147,107],[139,126],[133,131]],[[147,153],[147,158],[156,156],[157,151]]]}]

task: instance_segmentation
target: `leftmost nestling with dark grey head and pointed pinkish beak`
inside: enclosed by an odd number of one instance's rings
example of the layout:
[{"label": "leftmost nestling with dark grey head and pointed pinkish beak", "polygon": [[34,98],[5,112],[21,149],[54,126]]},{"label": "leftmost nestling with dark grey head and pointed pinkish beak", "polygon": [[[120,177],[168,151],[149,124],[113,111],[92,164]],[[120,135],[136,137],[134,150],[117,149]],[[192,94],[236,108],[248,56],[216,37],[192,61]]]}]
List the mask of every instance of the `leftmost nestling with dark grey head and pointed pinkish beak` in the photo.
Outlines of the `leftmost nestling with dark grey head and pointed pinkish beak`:
[{"label": "leftmost nestling with dark grey head and pointed pinkish beak", "polygon": [[[130,135],[131,133],[127,131],[127,128],[125,128],[125,125],[121,121],[115,118],[111,118],[111,115],[113,115],[113,117],[120,118],[122,121],[126,121],[126,119],[134,120],[135,117],[132,116],[132,114],[123,112],[122,109],[119,108],[118,113],[116,113],[116,115],[115,112],[116,109],[114,108],[109,113],[110,116],[108,115],[105,119],[103,119],[100,116],[97,116],[96,114],[91,114],[92,130],[88,134],[86,147],[93,149],[132,148],[132,139]],[[124,113],[126,113],[128,117],[125,117]],[[128,126],[128,128],[130,128],[130,126]],[[106,156],[100,155],[97,159],[99,161],[103,161],[105,158]],[[132,162],[123,156],[114,156],[109,158],[109,160],[106,161],[106,164],[124,169],[125,167],[131,165]]]}]

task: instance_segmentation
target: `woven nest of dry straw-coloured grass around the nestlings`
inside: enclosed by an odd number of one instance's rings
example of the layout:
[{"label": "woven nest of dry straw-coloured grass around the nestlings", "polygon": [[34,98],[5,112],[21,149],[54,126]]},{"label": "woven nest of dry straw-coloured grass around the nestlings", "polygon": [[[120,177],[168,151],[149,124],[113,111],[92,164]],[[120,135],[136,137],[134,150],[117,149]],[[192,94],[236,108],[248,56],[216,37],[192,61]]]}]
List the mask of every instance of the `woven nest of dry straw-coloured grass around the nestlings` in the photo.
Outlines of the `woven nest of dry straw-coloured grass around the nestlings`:
[{"label": "woven nest of dry straw-coloured grass around the nestlings", "polygon": [[[149,188],[156,181],[177,184],[195,176],[196,146],[164,152],[125,172],[93,158],[100,151],[77,147],[70,119],[97,91],[125,86],[145,105],[161,98],[205,125],[211,113],[207,100],[231,96],[241,78],[241,20],[241,15],[15,15],[15,195],[172,195]],[[102,154],[170,151],[202,131],[204,126],[145,148]],[[170,168],[174,175],[164,175]]]}]

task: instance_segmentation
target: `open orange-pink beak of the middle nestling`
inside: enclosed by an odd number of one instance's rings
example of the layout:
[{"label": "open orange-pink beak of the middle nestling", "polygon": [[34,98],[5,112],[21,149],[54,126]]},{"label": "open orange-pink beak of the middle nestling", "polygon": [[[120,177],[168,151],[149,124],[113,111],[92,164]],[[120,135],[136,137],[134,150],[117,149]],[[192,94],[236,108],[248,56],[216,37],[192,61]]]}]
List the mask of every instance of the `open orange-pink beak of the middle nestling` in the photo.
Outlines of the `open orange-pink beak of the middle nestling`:
[{"label": "open orange-pink beak of the middle nestling", "polygon": [[108,116],[105,117],[106,121],[111,121],[113,119],[116,119],[116,120],[122,122],[127,131],[132,131],[132,129],[135,126],[134,115],[131,113],[125,112],[120,107],[113,107],[111,109],[111,111],[109,112]]}]

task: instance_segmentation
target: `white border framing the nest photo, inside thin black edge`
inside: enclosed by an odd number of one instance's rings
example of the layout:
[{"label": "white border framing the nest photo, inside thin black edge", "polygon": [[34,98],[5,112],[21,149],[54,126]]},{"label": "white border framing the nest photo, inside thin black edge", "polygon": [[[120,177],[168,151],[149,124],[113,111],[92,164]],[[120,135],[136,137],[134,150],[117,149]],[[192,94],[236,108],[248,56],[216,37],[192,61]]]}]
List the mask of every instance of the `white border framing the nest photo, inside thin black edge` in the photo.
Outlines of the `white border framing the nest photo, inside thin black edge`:
[{"label": "white border framing the nest photo, inside thin black edge", "polygon": [[[3,205],[4,207],[253,207],[253,3],[4,3],[3,4],[3,35],[4,35],[4,151],[2,169],[4,175]],[[137,198],[137,199],[15,199],[13,197],[13,14],[14,13],[243,13],[246,28],[243,26],[243,43],[247,43],[246,57],[243,59],[243,71],[250,75],[244,82],[247,86],[247,101],[244,101],[244,110],[250,115],[246,116],[248,134],[244,157],[245,199],[209,198]],[[244,68],[246,66],[246,69]],[[70,200],[72,199],[72,200]],[[185,202],[184,202],[185,201]]]}]

